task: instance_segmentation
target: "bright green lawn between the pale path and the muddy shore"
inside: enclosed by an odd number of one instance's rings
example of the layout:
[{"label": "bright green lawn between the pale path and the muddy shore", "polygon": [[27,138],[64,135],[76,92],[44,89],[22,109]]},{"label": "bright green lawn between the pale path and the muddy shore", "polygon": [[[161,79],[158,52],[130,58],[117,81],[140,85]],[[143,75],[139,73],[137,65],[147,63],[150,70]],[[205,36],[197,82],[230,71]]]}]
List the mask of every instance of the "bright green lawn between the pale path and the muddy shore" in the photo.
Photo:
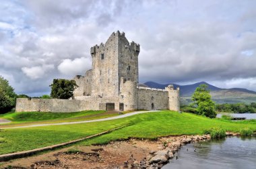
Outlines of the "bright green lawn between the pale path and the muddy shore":
[{"label": "bright green lawn between the pale path and the muddy shore", "polygon": [[112,140],[129,137],[154,139],[166,135],[202,134],[205,129],[212,127],[228,131],[240,131],[244,127],[250,127],[256,131],[256,121],[233,122],[208,119],[190,113],[162,111],[95,123],[5,129],[0,131],[0,154],[59,144],[126,124],[130,125],[79,144],[106,144]]}]

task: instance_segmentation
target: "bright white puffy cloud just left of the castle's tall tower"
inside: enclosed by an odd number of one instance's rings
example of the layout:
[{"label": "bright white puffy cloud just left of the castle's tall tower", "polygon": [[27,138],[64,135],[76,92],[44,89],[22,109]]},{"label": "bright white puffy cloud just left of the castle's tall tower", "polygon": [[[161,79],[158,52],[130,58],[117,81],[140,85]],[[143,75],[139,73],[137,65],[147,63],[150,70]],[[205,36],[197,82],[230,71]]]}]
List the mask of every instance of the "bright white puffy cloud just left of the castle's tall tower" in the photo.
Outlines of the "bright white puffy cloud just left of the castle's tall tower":
[{"label": "bright white puffy cloud just left of the castle's tall tower", "polygon": [[65,59],[59,64],[58,70],[65,75],[84,74],[92,66],[92,60],[88,58]]}]

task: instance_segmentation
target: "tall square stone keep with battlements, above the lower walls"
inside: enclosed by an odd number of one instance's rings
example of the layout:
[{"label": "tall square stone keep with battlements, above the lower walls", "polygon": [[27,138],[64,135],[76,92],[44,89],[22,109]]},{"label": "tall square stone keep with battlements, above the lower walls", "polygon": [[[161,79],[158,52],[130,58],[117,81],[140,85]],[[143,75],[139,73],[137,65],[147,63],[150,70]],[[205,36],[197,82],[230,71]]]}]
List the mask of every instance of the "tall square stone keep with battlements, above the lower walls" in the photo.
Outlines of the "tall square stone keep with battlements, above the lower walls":
[{"label": "tall square stone keep with battlements, above the lower walls", "polygon": [[125,33],[113,32],[105,44],[93,46],[92,96],[117,97],[123,82],[138,82],[139,44],[129,43]]}]

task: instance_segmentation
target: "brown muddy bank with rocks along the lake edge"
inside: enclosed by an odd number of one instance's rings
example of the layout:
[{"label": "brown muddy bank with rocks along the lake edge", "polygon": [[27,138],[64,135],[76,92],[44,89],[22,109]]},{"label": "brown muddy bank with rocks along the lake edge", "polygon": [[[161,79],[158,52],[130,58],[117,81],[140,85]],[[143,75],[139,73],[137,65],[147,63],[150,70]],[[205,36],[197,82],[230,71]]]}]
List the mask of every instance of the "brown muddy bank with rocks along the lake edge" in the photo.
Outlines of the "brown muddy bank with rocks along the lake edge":
[{"label": "brown muddy bank with rocks along the lake edge", "polygon": [[210,135],[129,139],[104,146],[72,146],[38,156],[5,162],[1,168],[161,168],[184,144]]}]

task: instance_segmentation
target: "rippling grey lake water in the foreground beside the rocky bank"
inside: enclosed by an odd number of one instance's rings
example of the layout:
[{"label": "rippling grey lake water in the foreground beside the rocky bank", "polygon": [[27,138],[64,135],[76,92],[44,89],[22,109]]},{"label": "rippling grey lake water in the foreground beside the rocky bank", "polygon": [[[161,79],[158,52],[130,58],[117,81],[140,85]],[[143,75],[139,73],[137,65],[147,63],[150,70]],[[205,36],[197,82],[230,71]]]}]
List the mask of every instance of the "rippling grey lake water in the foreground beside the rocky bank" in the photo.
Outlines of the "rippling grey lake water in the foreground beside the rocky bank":
[{"label": "rippling grey lake water in the foreground beside the rocky bank", "polygon": [[178,159],[175,156],[163,167],[164,169],[255,169],[256,138],[226,137],[209,142],[187,144],[175,155]]}]

